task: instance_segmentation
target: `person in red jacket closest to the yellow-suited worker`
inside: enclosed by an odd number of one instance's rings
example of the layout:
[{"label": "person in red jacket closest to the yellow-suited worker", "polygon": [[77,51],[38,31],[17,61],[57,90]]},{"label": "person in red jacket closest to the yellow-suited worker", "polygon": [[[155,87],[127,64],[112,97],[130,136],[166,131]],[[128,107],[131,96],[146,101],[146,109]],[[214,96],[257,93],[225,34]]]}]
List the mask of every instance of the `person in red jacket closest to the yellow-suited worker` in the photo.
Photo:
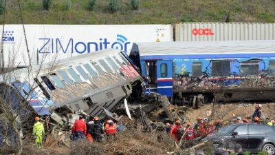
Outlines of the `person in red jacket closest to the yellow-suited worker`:
[{"label": "person in red jacket closest to the yellow-suited worker", "polygon": [[72,128],[72,134],[74,134],[74,140],[78,140],[78,138],[84,139],[87,132],[87,126],[85,121],[83,121],[83,116],[79,116],[79,119],[74,122],[74,126]]}]

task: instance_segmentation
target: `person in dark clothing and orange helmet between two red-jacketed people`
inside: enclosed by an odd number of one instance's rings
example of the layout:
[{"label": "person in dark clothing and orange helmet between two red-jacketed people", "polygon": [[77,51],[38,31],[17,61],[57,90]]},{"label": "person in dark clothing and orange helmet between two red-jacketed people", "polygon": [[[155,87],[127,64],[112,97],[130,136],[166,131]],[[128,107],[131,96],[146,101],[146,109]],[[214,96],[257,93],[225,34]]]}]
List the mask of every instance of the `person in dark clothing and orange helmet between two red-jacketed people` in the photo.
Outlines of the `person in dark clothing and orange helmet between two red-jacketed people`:
[{"label": "person in dark clothing and orange helmet between two red-jacketed people", "polygon": [[92,127],[92,134],[91,136],[94,138],[95,141],[101,142],[104,131],[102,130],[102,125],[97,116],[94,117],[94,125]]}]

